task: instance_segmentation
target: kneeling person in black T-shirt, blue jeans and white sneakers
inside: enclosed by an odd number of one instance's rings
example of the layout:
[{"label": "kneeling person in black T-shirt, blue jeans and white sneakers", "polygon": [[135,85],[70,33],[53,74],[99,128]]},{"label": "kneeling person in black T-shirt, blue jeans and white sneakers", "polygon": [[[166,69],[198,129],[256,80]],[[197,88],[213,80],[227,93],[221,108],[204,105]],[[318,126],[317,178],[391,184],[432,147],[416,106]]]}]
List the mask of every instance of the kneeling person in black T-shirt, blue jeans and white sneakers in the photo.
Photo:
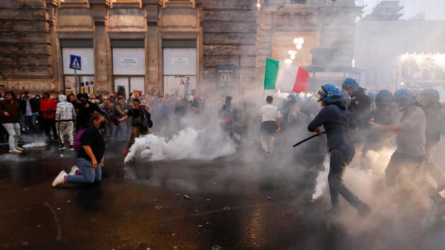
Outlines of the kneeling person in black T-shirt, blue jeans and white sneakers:
[{"label": "kneeling person in black T-shirt, blue jeans and white sneakers", "polygon": [[77,165],[72,167],[70,174],[61,171],[52,186],[69,183],[93,183],[102,179],[102,166],[104,165],[105,140],[101,129],[105,119],[102,115],[93,115],[91,124],[81,136],[82,148],[76,158]]}]

